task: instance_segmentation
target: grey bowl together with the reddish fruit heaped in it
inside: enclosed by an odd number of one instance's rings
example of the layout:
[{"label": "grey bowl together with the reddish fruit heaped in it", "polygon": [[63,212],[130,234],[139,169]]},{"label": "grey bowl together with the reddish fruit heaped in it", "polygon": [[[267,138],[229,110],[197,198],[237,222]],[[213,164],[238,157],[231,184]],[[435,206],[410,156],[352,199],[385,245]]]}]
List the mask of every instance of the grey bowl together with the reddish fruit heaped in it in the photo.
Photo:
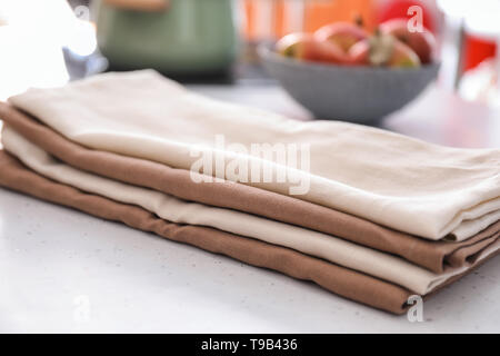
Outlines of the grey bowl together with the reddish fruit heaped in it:
[{"label": "grey bowl together with the reddish fruit heaped in it", "polygon": [[259,55],[268,72],[318,119],[373,125],[413,100],[439,71],[433,37],[401,34],[397,24],[367,33],[342,22],[288,34],[274,47],[260,46]]}]

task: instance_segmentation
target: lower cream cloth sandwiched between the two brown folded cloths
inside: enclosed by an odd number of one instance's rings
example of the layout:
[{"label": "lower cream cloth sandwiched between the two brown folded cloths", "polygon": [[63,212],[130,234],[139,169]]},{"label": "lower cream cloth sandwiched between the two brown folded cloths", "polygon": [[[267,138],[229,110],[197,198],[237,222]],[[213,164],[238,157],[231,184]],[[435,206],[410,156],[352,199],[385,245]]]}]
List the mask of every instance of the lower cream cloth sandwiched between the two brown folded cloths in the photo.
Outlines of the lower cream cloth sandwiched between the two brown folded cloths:
[{"label": "lower cream cloth sandwiched between the two brown folded cloths", "polygon": [[[297,249],[338,265],[392,281],[424,295],[449,277],[467,269],[457,268],[437,275],[399,257],[366,248],[337,237],[257,217],[253,215],[187,202],[146,188],[121,184],[61,164],[26,140],[14,130],[3,130],[4,149],[34,171],[59,182],[103,197],[138,205],[173,222],[210,226]],[[486,255],[494,250],[484,251]]]}]

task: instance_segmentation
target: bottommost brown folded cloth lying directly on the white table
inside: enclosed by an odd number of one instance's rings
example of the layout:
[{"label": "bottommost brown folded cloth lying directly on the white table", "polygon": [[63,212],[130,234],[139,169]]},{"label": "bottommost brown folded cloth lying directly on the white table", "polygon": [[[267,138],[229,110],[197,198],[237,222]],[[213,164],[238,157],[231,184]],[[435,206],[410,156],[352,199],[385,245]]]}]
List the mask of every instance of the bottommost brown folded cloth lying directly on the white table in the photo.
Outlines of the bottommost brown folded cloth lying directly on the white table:
[{"label": "bottommost brown folded cloth lying directly on the white table", "polygon": [[252,266],[310,280],[339,296],[393,314],[404,313],[406,301],[411,295],[399,286],[292,249],[208,227],[173,224],[142,208],[82,192],[29,170],[3,150],[0,150],[0,186],[103,219],[123,222],[173,241],[229,256]]}]

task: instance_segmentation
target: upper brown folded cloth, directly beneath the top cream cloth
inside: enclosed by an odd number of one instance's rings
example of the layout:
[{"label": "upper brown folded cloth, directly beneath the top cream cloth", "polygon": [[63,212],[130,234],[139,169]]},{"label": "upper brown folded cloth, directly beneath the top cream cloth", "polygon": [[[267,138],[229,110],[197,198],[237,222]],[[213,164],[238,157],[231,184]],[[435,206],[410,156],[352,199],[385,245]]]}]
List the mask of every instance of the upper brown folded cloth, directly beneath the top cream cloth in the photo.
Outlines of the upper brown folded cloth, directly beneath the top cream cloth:
[{"label": "upper brown folded cloth, directly beneath the top cream cloth", "polygon": [[34,145],[79,169],[181,199],[246,211],[338,236],[398,255],[434,273],[443,273],[449,266],[463,266],[494,243],[500,231],[498,221],[461,243],[429,241],[292,197],[231,181],[197,184],[190,172],[183,169],[91,150],[68,140],[8,103],[0,102],[0,118]]}]

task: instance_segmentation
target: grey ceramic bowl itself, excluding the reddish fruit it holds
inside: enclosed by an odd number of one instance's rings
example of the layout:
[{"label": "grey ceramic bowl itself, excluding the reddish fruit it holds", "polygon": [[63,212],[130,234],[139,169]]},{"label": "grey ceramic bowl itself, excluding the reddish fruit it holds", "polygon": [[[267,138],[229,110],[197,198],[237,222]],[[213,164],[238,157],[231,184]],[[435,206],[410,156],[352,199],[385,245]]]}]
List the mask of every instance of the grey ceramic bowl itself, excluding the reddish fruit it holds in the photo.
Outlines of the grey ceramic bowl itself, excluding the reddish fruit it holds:
[{"label": "grey ceramic bowl itself, excluding the reddish fruit it holds", "polygon": [[267,71],[318,119],[376,123],[413,100],[437,77],[439,65],[419,69],[342,67],[284,58],[269,47]]}]

